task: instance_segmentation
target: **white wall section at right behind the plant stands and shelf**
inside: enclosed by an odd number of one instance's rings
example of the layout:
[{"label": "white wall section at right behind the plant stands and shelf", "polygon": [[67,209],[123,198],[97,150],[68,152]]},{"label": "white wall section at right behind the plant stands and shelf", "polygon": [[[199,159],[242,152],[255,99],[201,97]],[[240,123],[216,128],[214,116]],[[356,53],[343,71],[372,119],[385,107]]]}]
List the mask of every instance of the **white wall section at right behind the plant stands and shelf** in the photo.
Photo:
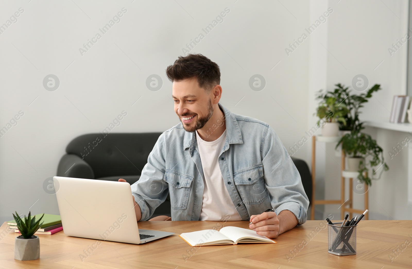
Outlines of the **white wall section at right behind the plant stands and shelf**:
[{"label": "white wall section at right behind the plant stands and shelf", "polygon": [[[382,90],[365,104],[361,119],[389,121],[393,95],[406,93],[407,43],[392,56],[388,48],[405,37],[408,31],[408,1],[329,2],[335,12],[328,24],[328,89],[334,89],[334,84],[338,82],[351,86],[355,75],[365,75],[370,87],[377,83],[381,84]],[[372,182],[369,191],[370,219],[411,219],[412,206],[407,204],[407,167],[411,163],[408,164],[407,149],[396,158],[391,159],[389,156],[389,150],[405,140],[407,133],[375,128],[366,128],[364,131],[370,133],[383,148],[389,166],[389,171]],[[412,138],[412,135],[409,134],[409,137]],[[329,153],[333,156],[333,147],[330,147]],[[327,199],[340,197],[340,179],[337,176],[340,167],[336,163],[340,164],[340,158],[334,159],[326,161]],[[356,179],[353,184],[358,184]],[[362,209],[363,196],[355,192],[353,197],[354,207]],[[338,207],[326,206],[325,214],[337,214]]]}]

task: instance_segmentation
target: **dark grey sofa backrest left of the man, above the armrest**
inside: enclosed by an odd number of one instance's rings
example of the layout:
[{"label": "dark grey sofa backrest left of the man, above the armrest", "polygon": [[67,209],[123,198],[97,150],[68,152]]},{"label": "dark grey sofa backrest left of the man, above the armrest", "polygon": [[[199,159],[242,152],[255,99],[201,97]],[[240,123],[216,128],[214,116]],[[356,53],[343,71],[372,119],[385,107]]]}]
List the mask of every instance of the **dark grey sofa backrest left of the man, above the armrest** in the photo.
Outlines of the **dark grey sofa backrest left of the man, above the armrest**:
[{"label": "dark grey sofa backrest left of the man, above the armrest", "polygon": [[140,175],[162,133],[88,133],[66,147],[93,169],[95,178]]}]

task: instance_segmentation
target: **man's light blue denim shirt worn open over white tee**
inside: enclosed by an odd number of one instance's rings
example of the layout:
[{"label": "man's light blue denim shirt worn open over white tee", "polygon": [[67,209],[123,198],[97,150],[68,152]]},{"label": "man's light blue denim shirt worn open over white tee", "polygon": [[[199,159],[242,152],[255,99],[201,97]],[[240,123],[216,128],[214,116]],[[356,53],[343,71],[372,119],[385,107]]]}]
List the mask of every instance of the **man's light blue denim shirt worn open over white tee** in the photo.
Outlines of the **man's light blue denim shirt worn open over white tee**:
[{"label": "man's light blue denim shirt worn open over white tee", "polygon": [[[226,142],[218,162],[232,199],[227,202],[233,202],[242,220],[274,208],[277,215],[289,210],[299,224],[306,222],[309,200],[299,172],[275,131],[265,122],[219,106],[226,121]],[[217,124],[213,125],[208,133],[216,128]],[[168,193],[172,220],[199,220],[203,179],[196,134],[185,131],[181,122],[164,131],[140,179],[131,185],[141,220],[148,220]]]}]

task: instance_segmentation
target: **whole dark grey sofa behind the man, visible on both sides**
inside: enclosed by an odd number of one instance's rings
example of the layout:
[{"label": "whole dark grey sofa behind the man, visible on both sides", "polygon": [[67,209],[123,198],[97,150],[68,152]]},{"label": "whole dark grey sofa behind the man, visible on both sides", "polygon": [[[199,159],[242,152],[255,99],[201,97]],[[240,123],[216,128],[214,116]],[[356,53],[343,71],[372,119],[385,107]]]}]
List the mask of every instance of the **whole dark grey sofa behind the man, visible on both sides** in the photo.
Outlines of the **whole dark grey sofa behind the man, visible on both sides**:
[{"label": "whole dark grey sofa behind the man, visible on both sides", "polygon": [[[129,184],[139,180],[157,138],[162,133],[88,133],[73,139],[66,147],[57,176],[117,181]],[[311,174],[305,161],[292,158],[311,201]],[[152,217],[170,216],[169,196]]]}]

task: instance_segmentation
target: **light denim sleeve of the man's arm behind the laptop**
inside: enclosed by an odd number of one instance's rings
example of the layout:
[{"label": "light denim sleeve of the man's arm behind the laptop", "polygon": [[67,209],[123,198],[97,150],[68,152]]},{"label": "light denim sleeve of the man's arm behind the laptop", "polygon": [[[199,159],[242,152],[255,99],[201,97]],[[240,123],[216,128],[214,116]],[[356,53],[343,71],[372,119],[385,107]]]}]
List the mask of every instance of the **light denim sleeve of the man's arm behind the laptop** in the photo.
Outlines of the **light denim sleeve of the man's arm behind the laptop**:
[{"label": "light denim sleeve of the man's arm behind the laptop", "polygon": [[148,220],[155,209],[162,204],[169,192],[164,181],[166,171],[164,134],[159,136],[152,152],[147,158],[138,181],[131,185],[131,192],[140,207],[142,218]]}]

